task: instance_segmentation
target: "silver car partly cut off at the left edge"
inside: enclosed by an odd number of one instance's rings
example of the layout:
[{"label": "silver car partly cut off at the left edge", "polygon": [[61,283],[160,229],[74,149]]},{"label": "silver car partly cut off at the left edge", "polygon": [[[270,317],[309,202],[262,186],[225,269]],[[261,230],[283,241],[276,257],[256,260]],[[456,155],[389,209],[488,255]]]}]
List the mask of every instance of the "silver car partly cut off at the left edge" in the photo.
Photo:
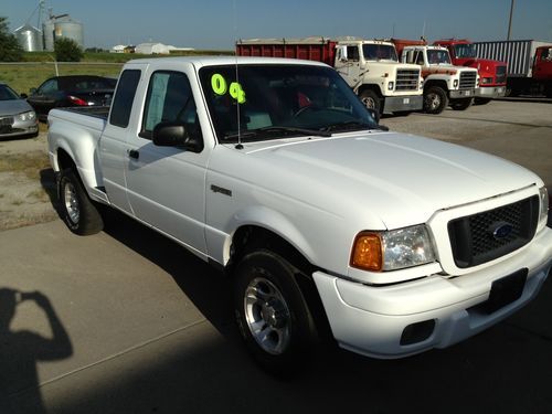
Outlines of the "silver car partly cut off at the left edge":
[{"label": "silver car partly cut off at the left edge", "polygon": [[15,91],[0,83],[0,137],[39,135],[39,124],[33,108]]}]

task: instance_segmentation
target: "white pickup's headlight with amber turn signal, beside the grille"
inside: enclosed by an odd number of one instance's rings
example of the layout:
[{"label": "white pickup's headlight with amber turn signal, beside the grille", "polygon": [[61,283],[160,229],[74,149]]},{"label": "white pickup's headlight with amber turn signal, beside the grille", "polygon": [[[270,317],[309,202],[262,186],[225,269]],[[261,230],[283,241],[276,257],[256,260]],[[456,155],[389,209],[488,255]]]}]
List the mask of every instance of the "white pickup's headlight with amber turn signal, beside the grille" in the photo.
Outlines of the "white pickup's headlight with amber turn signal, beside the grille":
[{"label": "white pickup's headlight with amber turn signal, beside the grille", "polygon": [[425,225],[388,232],[361,232],[351,253],[351,266],[363,270],[385,272],[435,262],[429,233]]}]

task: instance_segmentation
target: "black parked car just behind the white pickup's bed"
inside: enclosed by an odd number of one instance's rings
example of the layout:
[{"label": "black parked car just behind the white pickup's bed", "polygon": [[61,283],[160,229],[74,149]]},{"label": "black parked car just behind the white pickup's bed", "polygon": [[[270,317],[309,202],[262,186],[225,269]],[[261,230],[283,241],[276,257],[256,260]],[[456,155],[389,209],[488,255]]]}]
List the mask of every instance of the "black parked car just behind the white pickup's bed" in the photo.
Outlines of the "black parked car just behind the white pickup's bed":
[{"label": "black parked car just behind the white pickup's bed", "polygon": [[36,110],[39,119],[46,120],[52,108],[109,105],[116,84],[117,79],[103,76],[56,76],[31,89],[26,100]]}]

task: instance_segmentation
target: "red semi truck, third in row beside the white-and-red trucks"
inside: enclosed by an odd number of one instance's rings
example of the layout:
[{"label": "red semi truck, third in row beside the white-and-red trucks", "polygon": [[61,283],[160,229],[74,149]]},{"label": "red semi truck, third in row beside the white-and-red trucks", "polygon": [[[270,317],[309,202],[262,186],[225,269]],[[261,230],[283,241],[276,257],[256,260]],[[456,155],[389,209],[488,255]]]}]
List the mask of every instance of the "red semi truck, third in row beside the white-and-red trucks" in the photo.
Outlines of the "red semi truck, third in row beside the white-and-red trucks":
[{"label": "red semi truck, third in row beside the white-and-red trucks", "polygon": [[479,87],[476,89],[476,104],[487,104],[490,99],[505,96],[507,71],[505,62],[478,57],[476,45],[466,39],[445,39],[433,44],[448,49],[454,65],[477,70]]}]

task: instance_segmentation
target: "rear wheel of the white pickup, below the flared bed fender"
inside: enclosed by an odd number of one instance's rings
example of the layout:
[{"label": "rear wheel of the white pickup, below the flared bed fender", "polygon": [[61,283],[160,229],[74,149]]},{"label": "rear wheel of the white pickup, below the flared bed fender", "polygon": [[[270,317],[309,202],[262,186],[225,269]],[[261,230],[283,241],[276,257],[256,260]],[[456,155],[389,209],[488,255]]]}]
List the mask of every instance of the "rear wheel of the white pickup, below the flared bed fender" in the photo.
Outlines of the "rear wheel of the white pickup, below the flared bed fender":
[{"label": "rear wheel of the white pickup, below the flared bed fender", "polygon": [[60,215],[73,233],[88,235],[102,231],[102,216],[72,169],[61,172],[57,191]]}]

